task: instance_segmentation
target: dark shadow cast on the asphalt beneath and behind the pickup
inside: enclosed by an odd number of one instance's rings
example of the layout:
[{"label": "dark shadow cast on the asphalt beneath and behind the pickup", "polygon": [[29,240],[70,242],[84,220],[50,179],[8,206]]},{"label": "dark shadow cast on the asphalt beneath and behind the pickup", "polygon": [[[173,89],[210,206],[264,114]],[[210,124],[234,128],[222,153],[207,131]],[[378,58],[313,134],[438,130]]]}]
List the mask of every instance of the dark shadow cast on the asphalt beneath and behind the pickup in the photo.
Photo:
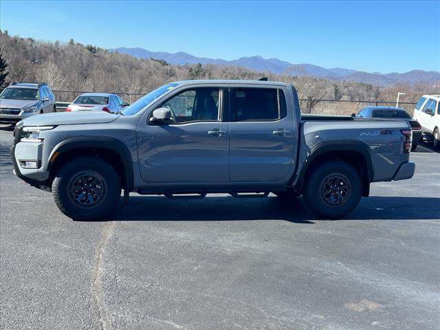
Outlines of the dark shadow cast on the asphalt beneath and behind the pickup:
[{"label": "dark shadow cast on the asphalt beneath and behind the pickup", "polygon": [[[204,200],[170,200],[166,197],[133,196],[129,206],[118,208],[107,221],[284,220],[312,224],[318,219],[305,207],[301,198],[285,201],[278,197],[235,199],[215,196]],[[342,220],[426,219],[440,219],[440,198],[363,198],[358,208]]]}]

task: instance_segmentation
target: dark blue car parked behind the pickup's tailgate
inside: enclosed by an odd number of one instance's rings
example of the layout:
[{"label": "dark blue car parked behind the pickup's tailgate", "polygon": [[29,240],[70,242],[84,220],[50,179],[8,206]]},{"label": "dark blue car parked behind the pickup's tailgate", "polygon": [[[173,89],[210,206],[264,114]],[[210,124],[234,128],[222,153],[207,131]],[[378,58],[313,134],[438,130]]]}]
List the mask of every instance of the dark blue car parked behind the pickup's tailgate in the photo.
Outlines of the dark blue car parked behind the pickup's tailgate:
[{"label": "dark blue car parked behind the pickup's tailgate", "polygon": [[417,148],[421,138],[421,126],[417,120],[412,119],[405,109],[396,107],[365,107],[356,115],[358,118],[385,118],[395,120],[407,120],[412,129],[412,147],[414,151]]}]

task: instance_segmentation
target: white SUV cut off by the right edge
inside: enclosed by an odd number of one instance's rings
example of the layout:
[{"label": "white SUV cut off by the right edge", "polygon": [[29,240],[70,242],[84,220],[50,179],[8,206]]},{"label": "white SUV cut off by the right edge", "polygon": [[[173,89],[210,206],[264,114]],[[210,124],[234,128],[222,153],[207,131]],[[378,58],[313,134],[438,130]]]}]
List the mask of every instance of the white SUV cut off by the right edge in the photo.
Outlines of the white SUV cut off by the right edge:
[{"label": "white SUV cut off by the right edge", "polygon": [[440,95],[423,95],[414,109],[422,136],[440,150]]}]

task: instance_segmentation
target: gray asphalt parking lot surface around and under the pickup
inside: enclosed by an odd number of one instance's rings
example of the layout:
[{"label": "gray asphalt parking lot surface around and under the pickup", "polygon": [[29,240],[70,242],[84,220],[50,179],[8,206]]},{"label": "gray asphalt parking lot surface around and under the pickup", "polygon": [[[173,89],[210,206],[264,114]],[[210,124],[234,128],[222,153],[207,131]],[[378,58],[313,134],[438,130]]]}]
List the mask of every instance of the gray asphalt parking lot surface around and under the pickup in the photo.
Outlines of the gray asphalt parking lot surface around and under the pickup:
[{"label": "gray asphalt parking lot surface around and under the pickup", "polygon": [[346,219],[277,197],[133,194],[72,221],[0,131],[1,329],[440,329],[440,154]]}]

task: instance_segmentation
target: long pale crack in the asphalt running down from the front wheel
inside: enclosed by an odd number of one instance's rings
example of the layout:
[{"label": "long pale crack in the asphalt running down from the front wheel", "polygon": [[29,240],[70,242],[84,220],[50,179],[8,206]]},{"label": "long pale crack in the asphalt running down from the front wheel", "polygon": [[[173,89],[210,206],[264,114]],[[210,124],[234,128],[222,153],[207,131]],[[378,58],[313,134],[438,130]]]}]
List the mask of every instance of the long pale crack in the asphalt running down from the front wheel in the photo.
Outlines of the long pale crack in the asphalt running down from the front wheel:
[{"label": "long pale crack in the asphalt running down from the front wheel", "polygon": [[107,318],[107,307],[104,300],[104,292],[102,291],[102,275],[104,272],[104,250],[113,233],[115,222],[111,221],[104,225],[98,249],[95,254],[95,265],[93,272],[93,282],[91,291],[94,298],[94,305],[98,314],[98,321],[100,322],[100,329],[111,330],[111,322]]}]

